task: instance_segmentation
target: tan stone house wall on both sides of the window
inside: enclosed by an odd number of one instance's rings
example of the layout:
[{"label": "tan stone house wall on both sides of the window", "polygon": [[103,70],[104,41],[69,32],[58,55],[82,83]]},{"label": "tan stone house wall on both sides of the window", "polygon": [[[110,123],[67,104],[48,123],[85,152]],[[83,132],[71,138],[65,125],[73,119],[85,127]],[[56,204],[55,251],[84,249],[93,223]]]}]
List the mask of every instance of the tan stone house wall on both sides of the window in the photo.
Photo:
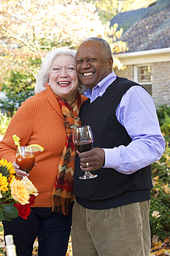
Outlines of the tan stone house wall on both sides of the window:
[{"label": "tan stone house wall on both sides of the window", "polygon": [[[170,62],[156,62],[151,64],[153,84],[152,97],[156,106],[170,105]],[[124,71],[115,68],[116,75],[133,80],[133,65],[126,66]]]}]

